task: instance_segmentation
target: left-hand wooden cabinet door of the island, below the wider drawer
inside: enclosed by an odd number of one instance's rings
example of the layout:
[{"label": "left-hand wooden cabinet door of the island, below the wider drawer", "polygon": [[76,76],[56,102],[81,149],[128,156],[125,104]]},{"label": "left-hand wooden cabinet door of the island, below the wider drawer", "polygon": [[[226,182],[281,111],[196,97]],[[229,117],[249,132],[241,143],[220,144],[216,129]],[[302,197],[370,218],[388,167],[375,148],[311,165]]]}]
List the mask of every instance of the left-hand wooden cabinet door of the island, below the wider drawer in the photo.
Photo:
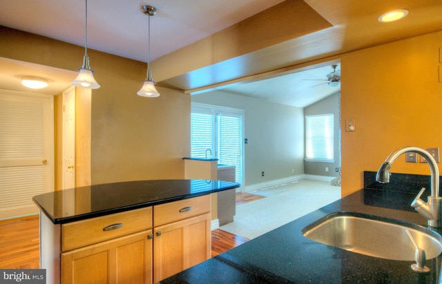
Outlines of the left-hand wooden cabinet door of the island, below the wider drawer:
[{"label": "left-hand wooden cabinet door of the island, below the wider drawer", "polygon": [[152,283],[152,230],[61,254],[61,283]]}]

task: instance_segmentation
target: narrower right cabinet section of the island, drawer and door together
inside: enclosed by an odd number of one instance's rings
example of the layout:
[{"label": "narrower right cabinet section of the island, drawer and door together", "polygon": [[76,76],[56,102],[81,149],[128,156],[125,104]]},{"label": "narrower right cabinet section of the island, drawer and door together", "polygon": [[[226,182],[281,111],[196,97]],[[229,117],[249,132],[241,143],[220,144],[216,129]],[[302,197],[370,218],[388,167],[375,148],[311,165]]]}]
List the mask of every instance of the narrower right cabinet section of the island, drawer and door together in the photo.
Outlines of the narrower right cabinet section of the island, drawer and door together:
[{"label": "narrower right cabinet section of the island, drawer and door together", "polygon": [[210,196],[153,207],[153,281],[156,283],[211,256]]}]

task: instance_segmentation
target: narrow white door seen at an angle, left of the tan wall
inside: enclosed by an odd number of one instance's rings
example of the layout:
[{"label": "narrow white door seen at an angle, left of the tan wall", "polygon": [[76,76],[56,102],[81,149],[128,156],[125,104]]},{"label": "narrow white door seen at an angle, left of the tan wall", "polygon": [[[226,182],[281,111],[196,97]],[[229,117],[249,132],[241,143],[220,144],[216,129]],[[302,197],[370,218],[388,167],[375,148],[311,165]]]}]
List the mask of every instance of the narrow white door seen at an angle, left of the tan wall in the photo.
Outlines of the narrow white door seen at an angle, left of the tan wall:
[{"label": "narrow white door seen at an angle, left of the tan wall", "polygon": [[75,187],[75,88],[63,92],[62,190]]}]

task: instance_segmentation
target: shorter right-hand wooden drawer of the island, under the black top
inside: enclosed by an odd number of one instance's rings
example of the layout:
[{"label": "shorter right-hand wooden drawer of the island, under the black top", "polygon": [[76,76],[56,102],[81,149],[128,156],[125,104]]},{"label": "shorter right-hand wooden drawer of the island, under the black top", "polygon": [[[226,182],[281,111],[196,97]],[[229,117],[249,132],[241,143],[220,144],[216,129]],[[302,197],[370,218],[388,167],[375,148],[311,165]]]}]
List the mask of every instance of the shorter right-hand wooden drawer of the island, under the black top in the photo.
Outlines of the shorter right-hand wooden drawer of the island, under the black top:
[{"label": "shorter right-hand wooden drawer of the island, under the black top", "polygon": [[154,227],[210,212],[210,194],[153,206]]}]

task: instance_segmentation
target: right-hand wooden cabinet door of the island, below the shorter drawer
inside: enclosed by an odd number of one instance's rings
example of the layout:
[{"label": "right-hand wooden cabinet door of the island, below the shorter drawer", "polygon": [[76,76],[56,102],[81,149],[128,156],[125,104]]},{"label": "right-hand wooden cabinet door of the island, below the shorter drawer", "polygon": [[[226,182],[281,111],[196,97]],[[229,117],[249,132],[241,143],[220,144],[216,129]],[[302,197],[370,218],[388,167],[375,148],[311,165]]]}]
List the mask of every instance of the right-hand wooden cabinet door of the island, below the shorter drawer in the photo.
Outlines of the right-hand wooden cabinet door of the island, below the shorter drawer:
[{"label": "right-hand wooden cabinet door of the island, below the shorter drawer", "polygon": [[210,223],[206,213],[154,228],[155,283],[210,258]]}]

